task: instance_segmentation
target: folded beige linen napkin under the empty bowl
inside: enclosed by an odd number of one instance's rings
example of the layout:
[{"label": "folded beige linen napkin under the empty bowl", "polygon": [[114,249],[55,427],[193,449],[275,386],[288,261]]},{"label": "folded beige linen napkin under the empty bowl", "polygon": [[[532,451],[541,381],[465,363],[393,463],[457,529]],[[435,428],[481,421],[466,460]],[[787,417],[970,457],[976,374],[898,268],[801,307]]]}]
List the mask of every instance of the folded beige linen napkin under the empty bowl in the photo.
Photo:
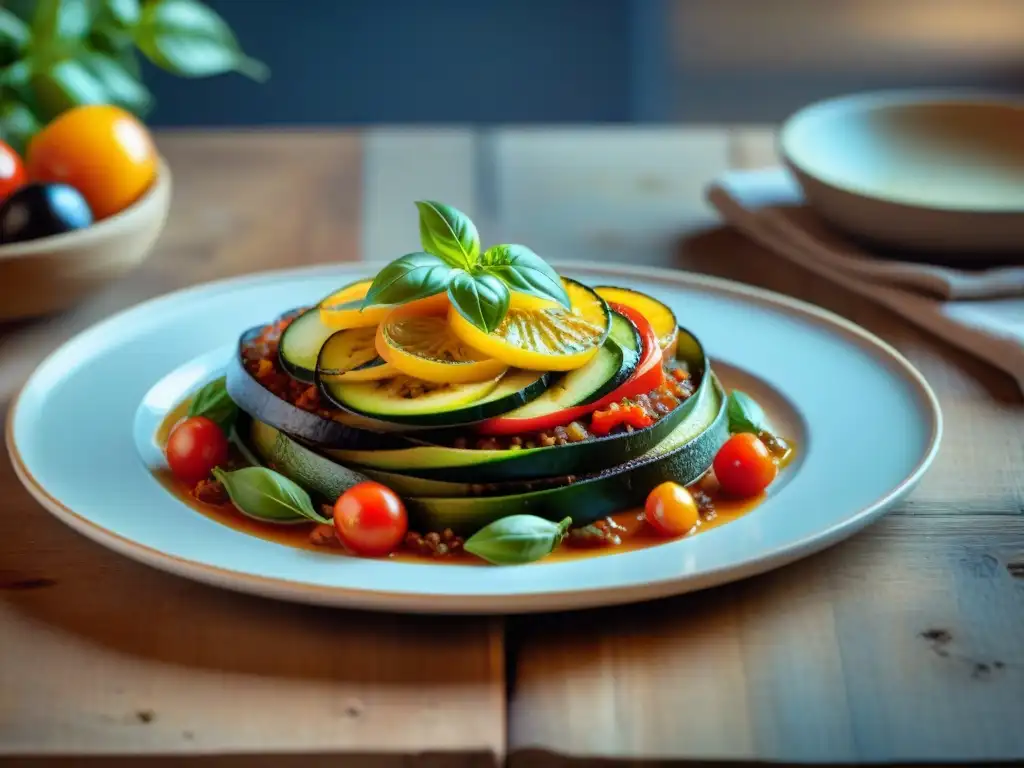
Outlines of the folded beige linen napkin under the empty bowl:
[{"label": "folded beige linen napkin under the empty bowl", "polygon": [[708,200],[753,240],[1007,371],[1024,392],[1024,267],[879,259],[822,224],[781,168],[730,171]]}]

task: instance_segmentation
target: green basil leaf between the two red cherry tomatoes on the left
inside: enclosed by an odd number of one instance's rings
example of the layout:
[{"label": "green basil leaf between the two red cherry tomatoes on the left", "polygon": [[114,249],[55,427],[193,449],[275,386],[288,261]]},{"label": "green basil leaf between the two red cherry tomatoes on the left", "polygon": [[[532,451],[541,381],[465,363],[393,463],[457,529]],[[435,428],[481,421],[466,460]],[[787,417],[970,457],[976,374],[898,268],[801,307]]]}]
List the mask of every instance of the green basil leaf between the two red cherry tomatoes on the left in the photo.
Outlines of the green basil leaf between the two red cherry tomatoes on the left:
[{"label": "green basil leaf between the two red cherry tomatoes on the left", "polygon": [[217,468],[213,476],[223,483],[231,503],[249,517],[264,522],[331,522],[313,508],[301,485],[272,469],[244,467],[225,472]]}]

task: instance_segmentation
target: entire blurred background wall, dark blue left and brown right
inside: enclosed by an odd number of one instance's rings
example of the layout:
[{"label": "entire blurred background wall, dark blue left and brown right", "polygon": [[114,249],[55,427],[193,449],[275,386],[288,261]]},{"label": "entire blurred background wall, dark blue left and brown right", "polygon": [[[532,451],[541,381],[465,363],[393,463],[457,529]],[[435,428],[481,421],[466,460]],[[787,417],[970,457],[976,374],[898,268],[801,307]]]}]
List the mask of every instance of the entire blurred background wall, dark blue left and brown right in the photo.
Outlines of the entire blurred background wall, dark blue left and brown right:
[{"label": "entire blurred background wall, dark blue left and brown right", "polygon": [[1024,0],[207,1],[270,79],[148,68],[157,125],[763,122],[851,90],[1019,90],[1024,55]]}]

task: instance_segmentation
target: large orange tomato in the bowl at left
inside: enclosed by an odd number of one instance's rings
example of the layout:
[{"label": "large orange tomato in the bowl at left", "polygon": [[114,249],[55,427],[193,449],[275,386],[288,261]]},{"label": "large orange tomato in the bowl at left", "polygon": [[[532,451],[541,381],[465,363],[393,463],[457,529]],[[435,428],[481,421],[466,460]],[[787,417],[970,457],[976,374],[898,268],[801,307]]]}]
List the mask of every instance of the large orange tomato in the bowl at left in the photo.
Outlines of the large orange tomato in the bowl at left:
[{"label": "large orange tomato in the bowl at left", "polygon": [[153,137],[129,112],[106,104],[59,115],[29,144],[29,176],[78,189],[98,220],[124,210],[157,176]]}]

